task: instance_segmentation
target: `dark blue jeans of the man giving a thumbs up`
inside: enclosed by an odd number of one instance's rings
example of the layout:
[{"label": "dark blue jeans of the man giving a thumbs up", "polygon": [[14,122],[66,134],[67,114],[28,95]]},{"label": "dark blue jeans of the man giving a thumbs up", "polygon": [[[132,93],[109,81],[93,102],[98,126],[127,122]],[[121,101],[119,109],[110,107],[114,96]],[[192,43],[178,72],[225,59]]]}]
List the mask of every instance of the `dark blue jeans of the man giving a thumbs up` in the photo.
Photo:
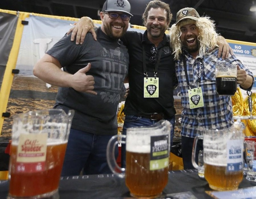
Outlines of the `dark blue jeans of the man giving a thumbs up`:
[{"label": "dark blue jeans of the man giving a thumbs up", "polygon": [[[111,137],[70,129],[61,175],[79,175],[81,171],[84,175],[112,173],[106,156]],[[115,156],[118,156],[118,145]]]}]

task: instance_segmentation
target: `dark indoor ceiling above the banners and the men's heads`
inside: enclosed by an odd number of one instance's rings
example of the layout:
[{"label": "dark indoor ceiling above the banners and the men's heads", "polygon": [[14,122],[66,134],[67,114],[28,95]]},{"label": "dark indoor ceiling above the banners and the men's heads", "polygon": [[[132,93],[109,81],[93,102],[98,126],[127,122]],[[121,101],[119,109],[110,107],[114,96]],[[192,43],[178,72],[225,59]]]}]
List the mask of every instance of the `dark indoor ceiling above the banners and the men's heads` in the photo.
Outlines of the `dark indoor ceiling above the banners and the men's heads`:
[{"label": "dark indoor ceiling above the banners and the men's heads", "polygon": [[[99,19],[105,0],[1,0],[0,9]],[[141,15],[150,0],[129,0],[134,15],[130,23],[142,26]],[[193,7],[198,13],[215,20],[217,31],[226,39],[256,43],[256,15],[251,12],[252,0],[163,0],[170,5],[175,22],[177,11]],[[256,4],[256,1],[255,1]]]}]

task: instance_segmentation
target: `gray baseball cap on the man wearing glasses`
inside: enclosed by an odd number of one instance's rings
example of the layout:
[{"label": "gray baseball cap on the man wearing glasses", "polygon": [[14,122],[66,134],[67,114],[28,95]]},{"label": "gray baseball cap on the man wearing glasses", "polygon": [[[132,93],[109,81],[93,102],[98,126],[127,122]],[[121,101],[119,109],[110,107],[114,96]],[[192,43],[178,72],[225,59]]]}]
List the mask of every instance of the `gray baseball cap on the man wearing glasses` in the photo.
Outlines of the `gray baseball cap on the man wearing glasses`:
[{"label": "gray baseball cap on the man wearing glasses", "polygon": [[102,12],[125,12],[130,16],[133,16],[131,12],[131,5],[127,0],[106,0],[102,7]]}]

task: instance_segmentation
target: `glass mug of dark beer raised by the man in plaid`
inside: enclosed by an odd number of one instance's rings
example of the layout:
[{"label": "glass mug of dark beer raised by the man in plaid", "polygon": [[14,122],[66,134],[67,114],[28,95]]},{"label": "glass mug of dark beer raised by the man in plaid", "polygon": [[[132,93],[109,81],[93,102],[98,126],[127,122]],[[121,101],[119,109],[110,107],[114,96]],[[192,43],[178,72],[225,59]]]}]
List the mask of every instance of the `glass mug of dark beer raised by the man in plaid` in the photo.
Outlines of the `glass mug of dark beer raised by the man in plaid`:
[{"label": "glass mug of dark beer raised by the man in plaid", "polygon": [[237,89],[236,64],[226,61],[216,63],[216,89],[219,95],[234,95]]}]

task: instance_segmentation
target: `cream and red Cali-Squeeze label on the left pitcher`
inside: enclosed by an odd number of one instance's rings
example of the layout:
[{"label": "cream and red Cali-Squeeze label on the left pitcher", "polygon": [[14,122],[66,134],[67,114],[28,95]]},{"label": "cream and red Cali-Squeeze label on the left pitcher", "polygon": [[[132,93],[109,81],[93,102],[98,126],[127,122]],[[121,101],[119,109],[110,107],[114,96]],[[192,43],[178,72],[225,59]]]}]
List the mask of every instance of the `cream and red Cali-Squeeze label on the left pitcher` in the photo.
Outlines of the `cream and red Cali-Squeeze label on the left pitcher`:
[{"label": "cream and red Cali-Squeeze label on the left pitcher", "polygon": [[20,134],[17,151],[17,172],[45,170],[47,133]]}]

